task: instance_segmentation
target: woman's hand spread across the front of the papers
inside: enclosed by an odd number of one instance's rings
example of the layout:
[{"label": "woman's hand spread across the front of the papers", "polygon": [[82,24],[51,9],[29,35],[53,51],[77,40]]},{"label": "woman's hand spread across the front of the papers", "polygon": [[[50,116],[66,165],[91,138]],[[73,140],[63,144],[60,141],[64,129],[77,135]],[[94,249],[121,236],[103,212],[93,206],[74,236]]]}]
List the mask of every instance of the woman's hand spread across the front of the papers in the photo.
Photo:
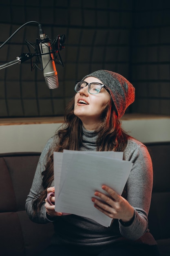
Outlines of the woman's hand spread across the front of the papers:
[{"label": "woman's hand spread across the front of the papers", "polygon": [[134,216],[134,208],[128,201],[118,195],[109,186],[103,185],[102,189],[106,191],[108,195],[96,191],[95,196],[99,199],[92,198],[92,202],[95,203],[95,208],[112,219],[121,219],[123,222],[130,221]]}]

